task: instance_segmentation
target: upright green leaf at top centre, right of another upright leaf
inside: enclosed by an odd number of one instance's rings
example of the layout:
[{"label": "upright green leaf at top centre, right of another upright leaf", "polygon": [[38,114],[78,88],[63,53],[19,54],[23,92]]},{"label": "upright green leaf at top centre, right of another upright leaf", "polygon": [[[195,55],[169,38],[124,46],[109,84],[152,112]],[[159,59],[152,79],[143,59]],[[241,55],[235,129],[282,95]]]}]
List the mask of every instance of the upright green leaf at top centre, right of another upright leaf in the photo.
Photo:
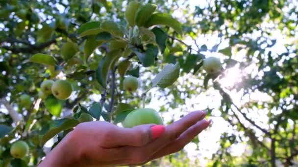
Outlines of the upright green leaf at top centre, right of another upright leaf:
[{"label": "upright green leaf at top centre, right of another upright leaf", "polygon": [[139,27],[145,25],[145,23],[149,20],[152,13],[155,11],[156,7],[157,6],[155,4],[151,4],[151,3],[147,3],[146,5],[141,6],[135,16],[136,24]]}]

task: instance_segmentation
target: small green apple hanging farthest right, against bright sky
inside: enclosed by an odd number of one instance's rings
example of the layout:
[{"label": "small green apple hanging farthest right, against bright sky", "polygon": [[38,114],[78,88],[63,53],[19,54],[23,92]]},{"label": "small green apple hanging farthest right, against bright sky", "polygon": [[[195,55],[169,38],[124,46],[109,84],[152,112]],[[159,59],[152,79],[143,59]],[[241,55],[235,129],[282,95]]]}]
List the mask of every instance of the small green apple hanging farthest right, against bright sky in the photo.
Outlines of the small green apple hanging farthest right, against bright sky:
[{"label": "small green apple hanging farthest right, against bright sky", "polygon": [[208,74],[215,74],[222,70],[222,63],[218,58],[209,57],[203,60],[203,69]]}]

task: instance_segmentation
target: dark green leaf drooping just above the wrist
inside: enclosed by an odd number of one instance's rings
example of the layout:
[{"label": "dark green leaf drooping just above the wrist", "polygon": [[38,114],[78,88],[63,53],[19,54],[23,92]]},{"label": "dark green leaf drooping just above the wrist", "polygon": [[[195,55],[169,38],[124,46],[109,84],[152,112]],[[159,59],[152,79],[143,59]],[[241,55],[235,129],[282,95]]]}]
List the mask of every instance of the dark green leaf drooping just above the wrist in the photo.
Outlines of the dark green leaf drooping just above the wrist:
[{"label": "dark green leaf drooping just above the wrist", "polygon": [[57,135],[59,132],[70,129],[78,125],[79,122],[73,118],[63,118],[55,120],[50,125],[50,130],[42,137],[40,146],[43,146],[48,140]]}]

